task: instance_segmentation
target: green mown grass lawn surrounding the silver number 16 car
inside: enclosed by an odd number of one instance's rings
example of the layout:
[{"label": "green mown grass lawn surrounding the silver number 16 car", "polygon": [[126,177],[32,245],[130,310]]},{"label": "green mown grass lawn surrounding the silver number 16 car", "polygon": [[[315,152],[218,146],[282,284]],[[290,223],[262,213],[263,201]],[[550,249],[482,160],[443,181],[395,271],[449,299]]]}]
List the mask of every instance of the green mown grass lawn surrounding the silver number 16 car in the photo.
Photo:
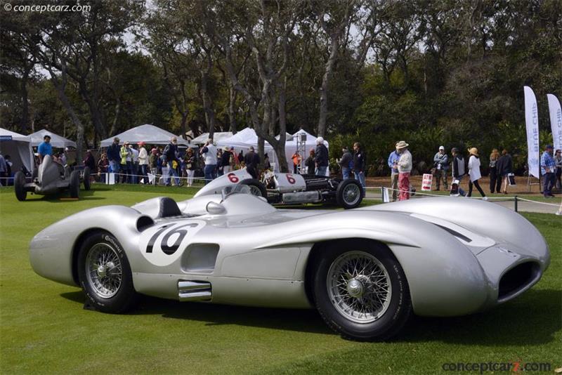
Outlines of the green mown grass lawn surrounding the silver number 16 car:
[{"label": "green mown grass lawn surrounding the silver number 16 car", "polygon": [[[417,374],[445,362],[549,362],[562,367],[562,218],[524,213],[546,237],[551,265],[516,300],[486,313],[421,318],[388,343],[332,333],[314,310],[241,308],[145,298],[129,315],[83,310],[84,296],[36,275],[28,245],[39,230],[93,206],[131,205],[186,187],[93,185],[79,201],[0,188],[0,371],[32,373]],[[82,194],[83,192],[81,192]],[[551,371],[551,373],[553,373]]]}]

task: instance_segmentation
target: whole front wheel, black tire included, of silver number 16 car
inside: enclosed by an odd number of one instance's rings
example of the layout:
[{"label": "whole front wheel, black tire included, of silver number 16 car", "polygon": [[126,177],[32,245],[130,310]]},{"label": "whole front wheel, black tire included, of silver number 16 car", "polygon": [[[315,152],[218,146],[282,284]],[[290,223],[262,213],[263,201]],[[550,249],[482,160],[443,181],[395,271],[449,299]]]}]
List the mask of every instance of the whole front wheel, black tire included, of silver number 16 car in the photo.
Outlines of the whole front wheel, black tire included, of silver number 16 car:
[{"label": "whole front wheel, black tire included, of silver number 16 car", "polygon": [[[351,266],[354,264],[353,257],[365,261],[361,265],[362,270]],[[351,262],[348,268],[342,266],[347,265],[346,262]],[[367,265],[367,272],[363,265]],[[336,272],[338,270],[341,272]],[[367,275],[368,272],[371,273]],[[376,285],[372,272],[379,275]],[[331,286],[330,280],[334,280]],[[345,338],[358,341],[386,340],[398,334],[412,315],[410,289],[404,271],[392,252],[377,242],[341,240],[332,243],[322,251],[313,274],[312,289],[316,308],[322,318]],[[351,295],[358,290],[361,291],[359,296]],[[381,298],[384,300],[382,303]],[[369,315],[365,313],[363,317],[353,317],[361,309],[365,309],[364,312]]]}]

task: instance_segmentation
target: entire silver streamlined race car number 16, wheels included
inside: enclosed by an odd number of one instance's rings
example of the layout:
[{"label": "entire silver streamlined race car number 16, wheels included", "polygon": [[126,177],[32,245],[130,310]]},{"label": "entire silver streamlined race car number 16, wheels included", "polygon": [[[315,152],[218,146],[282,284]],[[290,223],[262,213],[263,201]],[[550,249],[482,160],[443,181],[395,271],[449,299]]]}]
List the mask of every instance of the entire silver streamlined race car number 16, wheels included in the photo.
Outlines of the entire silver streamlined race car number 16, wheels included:
[{"label": "entire silver streamlined race car number 16, wheels included", "polygon": [[106,313],[132,308],[139,294],[317,308],[343,336],[384,340],[412,313],[466,315],[509,301],[549,265],[540,232],[488,202],[282,210],[239,190],[249,188],[82,211],[34,237],[32,267],[81,286]]}]

